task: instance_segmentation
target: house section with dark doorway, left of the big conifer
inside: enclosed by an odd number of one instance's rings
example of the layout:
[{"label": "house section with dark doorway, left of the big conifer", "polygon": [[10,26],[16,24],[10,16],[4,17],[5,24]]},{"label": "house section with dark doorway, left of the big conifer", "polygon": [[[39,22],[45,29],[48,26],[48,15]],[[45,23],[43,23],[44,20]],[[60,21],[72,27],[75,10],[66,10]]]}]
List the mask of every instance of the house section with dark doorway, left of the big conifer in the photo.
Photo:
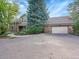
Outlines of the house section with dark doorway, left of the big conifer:
[{"label": "house section with dark doorway, left of the big conifer", "polygon": [[11,31],[13,32],[22,31],[26,27],[26,25],[27,25],[27,17],[26,14],[24,14],[19,19],[16,19],[13,22],[13,25],[11,26],[12,27]]}]

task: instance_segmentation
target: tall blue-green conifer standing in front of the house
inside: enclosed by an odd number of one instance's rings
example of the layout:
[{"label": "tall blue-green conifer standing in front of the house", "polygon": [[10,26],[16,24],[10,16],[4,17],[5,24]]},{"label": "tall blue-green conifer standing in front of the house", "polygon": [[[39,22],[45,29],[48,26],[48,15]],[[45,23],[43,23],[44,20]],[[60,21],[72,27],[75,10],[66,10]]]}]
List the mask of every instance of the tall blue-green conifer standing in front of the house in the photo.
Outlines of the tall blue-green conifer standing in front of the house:
[{"label": "tall blue-green conifer standing in front of the house", "polygon": [[40,33],[48,20],[45,0],[28,0],[28,3],[28,31],[30,33]]}]

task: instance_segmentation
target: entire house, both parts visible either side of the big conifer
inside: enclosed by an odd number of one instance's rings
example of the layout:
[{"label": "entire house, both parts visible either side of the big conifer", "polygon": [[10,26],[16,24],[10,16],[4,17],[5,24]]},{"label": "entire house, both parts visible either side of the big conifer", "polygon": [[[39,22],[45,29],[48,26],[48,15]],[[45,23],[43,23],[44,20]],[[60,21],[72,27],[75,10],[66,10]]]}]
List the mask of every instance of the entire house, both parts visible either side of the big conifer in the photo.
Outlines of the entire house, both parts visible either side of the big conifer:
[{"label": "entire house, both parts visible either side of the big conifer", "polygon": [[[23,30],[27,25],[27,17],[23,15],[15,21],[13,29],[16,32]],[[73,21],[68,16],[63,17],[51,17],[48,19],[45,27],[45,33],[71,33]]]}]

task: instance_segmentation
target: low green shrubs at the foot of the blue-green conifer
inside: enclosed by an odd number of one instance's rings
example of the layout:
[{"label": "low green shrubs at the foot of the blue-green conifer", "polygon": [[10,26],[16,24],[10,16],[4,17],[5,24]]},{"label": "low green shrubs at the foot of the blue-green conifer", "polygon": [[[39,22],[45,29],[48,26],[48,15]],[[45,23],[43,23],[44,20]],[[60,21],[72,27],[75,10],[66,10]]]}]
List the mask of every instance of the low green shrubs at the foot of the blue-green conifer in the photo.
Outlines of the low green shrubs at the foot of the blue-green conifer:
[{"label": "low green shrubs at the foot of the blue-green conifer", "polygon": [[42,33],[42,32],[43,32],[43,27],[41,27],[41,26],[31,26],[31,27],[28,27],[28,28],[24,29],[23,31],[18,32],[16,34],[28,35],[28,34],[39,34],[39,33]]}]

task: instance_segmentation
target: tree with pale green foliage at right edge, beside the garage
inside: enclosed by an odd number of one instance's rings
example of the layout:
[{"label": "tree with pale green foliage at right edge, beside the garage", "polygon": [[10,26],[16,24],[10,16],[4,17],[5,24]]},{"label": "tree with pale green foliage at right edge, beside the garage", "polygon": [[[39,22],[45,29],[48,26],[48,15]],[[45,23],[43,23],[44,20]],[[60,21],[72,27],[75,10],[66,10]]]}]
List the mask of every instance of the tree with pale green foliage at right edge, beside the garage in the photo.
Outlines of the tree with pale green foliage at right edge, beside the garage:
[{"label": "tree with pale green foliage at right edge, beside the garage", "polygon": [[74,22],[74,34],[79,35],[79,0],[74,0],[74,2],[69,5],[68,9]]}]

